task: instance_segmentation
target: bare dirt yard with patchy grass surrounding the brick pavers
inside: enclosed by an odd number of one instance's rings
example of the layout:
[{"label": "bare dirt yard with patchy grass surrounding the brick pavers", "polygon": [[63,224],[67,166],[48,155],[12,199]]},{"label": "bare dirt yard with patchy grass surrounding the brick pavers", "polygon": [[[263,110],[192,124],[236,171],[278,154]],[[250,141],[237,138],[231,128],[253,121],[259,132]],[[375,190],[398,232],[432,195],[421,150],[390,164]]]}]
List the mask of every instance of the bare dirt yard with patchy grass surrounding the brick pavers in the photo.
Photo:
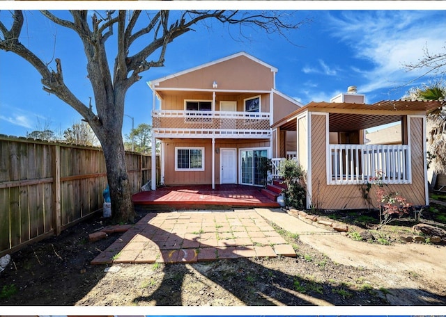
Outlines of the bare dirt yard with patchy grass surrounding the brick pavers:
[{"label": "bare dirt yard with patchy grass surrounding the brick pavers", "polygon": [[92,266],[90,261],[120,236],[89,242],[89,234],[106,225],[96,216],[12,254],[0,273],[0,303],[446,305],[445,246],[380,245],[346,234],[281,231],[297,258]]}]

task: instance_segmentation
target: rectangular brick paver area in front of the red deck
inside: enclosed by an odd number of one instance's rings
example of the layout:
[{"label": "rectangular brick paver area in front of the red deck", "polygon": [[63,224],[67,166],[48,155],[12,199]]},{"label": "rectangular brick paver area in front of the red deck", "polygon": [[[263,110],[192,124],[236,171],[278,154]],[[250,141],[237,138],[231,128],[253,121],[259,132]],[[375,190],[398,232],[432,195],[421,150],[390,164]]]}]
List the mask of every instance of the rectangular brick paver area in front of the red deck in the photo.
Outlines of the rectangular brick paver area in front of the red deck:
[{"label": "rectangular brick paver area in front of the red deck", "polygon": [[254,210],[148,213],[125,229],[92,264],[296,256],[293,247]]}]

